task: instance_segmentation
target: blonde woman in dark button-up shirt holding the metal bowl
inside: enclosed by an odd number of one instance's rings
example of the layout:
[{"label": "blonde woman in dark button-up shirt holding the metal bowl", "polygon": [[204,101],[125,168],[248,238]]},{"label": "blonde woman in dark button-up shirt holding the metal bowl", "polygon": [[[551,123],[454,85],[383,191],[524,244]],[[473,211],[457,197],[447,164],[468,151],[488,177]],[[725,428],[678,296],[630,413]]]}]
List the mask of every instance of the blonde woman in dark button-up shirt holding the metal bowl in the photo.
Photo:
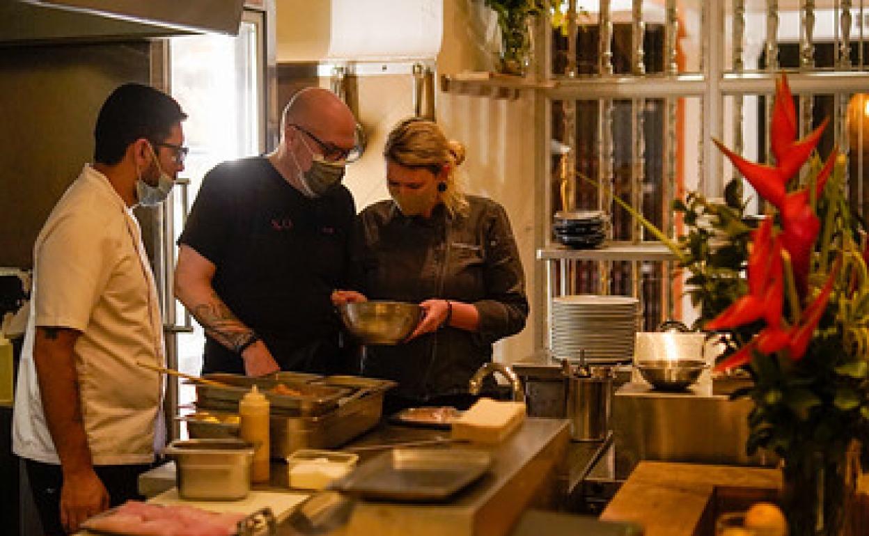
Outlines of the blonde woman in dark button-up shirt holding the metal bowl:
[{"label": "blonde woman in dark button-up shirt holding the metal bowl", "polygon": [[461,191],[465,149],[436,123],[398,123],[383,156],[392,199],[359,215],[359,292],[336,291],[333,300],[420,303],[425,316],[408,341],[367,347],[362,374],[398,381],[388,411],[453,405],[491,361],[492,343],[525,326],[516,242],[499,203]]}]

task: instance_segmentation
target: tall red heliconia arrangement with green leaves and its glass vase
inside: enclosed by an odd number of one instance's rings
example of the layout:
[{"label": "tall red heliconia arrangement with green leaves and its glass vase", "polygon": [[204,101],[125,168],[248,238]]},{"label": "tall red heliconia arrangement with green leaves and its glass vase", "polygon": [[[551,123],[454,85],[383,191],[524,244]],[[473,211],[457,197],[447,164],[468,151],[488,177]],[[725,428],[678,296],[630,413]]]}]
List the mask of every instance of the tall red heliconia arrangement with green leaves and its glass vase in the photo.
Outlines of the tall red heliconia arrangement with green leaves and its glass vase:
[{"label": "tall red heliconia arrangement with green leaves and its glass vase", "polygon": [[869,459],[866,233],[843,193],[845,156],[837,149],[826,162],[813,156],[826,123],[797,139],[793,96],[781,76],[770,129],[774,165],[748,162],[715,141],[769,207],[760,218],[746,217],[738,180],[723,203],[698,193],[675,201],[688,229],[677,241],[614,198],[687,269],[700,312],[695,328],[726,344],[715,369],[749,375],[750,385],[733,394],[753,402],[746,450],[783,460],[791,536],[839,534],[842,467],[855,443]]}]

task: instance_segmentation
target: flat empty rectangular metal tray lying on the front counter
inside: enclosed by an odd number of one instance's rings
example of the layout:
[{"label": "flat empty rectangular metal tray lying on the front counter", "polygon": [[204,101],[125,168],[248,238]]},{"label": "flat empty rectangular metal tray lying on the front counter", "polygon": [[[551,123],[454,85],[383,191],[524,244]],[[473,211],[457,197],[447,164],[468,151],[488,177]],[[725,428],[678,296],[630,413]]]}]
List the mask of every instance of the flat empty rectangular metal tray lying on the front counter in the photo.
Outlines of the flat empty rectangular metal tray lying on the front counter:
[{"label": "flat empty rectangular metal tray lying on the front counter", "polygon": [[482,450],[395,448],[332,487],[366,499],[440,502],[481,478],[491,465],[491,454]]}]

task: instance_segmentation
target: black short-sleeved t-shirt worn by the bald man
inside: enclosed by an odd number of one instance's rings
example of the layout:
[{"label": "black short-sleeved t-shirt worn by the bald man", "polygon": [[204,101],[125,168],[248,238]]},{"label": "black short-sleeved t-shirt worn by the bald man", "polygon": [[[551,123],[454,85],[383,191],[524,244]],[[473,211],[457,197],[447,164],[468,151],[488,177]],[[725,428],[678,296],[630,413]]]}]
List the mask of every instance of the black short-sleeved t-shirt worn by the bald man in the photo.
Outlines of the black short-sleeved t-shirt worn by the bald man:
[{"label": "black short-sleeved t-shirt worn by the bald man", "polygon": [[[212,286],[285,370],[326,372],[341,321],[329,299],[346,288],[355,215],[343,186],[310,199],[264,157],[224,162],[202,181],[179,244],[213,262]],[[243,372],[206,338],[203,372]]]}]

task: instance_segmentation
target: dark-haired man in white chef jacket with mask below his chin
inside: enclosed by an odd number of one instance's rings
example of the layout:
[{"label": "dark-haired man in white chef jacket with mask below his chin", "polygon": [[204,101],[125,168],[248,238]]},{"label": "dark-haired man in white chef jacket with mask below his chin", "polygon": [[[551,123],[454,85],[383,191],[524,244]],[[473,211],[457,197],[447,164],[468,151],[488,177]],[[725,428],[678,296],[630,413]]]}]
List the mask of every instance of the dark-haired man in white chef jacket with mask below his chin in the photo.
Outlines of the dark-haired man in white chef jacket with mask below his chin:
[{"label": "dark-haired man in white chef jacket with mask below his chin", "polygon": [[131,208],[156,206],[184,167],[186,114],[128,83],[103,103],[86,164],[36,238],[13,450],[45,534],[136,498],[165,440],[163,322]]}]

